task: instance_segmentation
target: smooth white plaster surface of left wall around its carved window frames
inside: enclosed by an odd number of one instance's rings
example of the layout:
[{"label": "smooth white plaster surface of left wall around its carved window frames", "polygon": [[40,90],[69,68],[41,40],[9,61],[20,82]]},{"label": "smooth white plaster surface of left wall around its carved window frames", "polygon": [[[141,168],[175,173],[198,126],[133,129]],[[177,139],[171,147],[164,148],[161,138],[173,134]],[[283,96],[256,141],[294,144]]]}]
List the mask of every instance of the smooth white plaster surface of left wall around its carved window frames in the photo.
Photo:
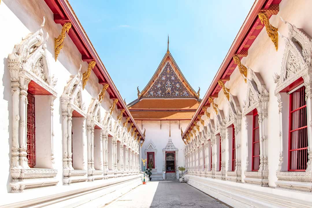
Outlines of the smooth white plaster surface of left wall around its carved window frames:
[{"label": "smooth white plaster surface of left wall around its carved window frames", "polygon": [[[81,65],[81,71],[85,72],[88,67],[87,62],[83,62],[81,59],[81,54],[66,34],[64,41],[64,47],[61,50],[57,60],[54,59],[54,38],[58,37],[61,32],[61,24],[56,24],[54,22],[53,13],[50,8],[46,5],[45,1],[41,0],[21,0],[21,1],[10,1],[2,0],[0,4],[0,25],[2,32],[0,33],[0,74],[2,75],[0,79],[0,94],[2,94],[2,99],[0,99],[0,106],[2,109],[2,119],[0,121],[0,134],[2,139],[0,141],[0,158],[2,158],[2,171],[0,171],[0,195],[2,196],[2,204],[8,204],[17,201],[16,195],[8,193],[11,191],[9,182],[11,181],[10,176],[10,159],[12,147],[12,94],[11,94],[11,81],[10,73],[7,67],[7,56],[12,53],[14,45],[19,44],[22,38],[25,38],[29,33],[36,32],[42,23],[43,17],[45,17],[45,26],[42,28],[44,36],[46,33],[49,34],[49,39],[47,41],[48,50],[48,62],[50,67],[51,75],[55,75],[57,78],[55,90],[57,92],[57,98],[54,100],[54,165],[53,168],[58,170],[56,179],[59,181],[56,187],[53,188],[43,188],[41,191],[36,192],[36,197],[46,196],[48,194],[58,193],[60,191],[74,190],[79,187],[85,187],[85,183],[75,184],[75,187],[63,186],[63,166],[62,166],[62,109],[60,105],[60,96],[64,92],[64,87],[66,86],[71,75],[76,75]],[[6,31],[6,32],[4,32]],[[91,99],[93,97],[98,97],[102,85],[98,83],[98,79],[93,72],[91,72],[90,78],[82,91],[82,100],[85,104],[85,113],[87,113],[88,107],[90,105]],[[39,141],[45,141],[45,134],[51,135],[51,125],[46,125],[45,120],[50,122],[50,101],[49,96],[35,96],[35,107],[36,107],[36,154],[40,154],[42,157],[37,158],[37,165],[40,164],[40,168],[51,168],[51,161],[44,162],[46,155],[50,158],[51,155],[51,141],[50,146],[42,145],[38,143]],[[105,98],[101,103],[100,114],[101,120],[104,119],[105,112],[110,110],[113,100],[110,99],[108,93],[105,94]],[[50,113],[50,114],[49,114]],[[112,114],[113,123],[117,120],[117,116],[120,111],[115,109]],[[121,124],[125,121],[124,118],[121,120]],[[82,131],[82,119],[73,118],[73,128],[74,134],[76,132]],[[129,124],[128,124],[129,125]],[[39,128],[40,127],[40,128]],[[86,124],[84,124],[86,128]],[[100,133],[95,132],[95,145],[99,147]],[[79,148],[79,154],[74,153],[74,167],[75,160],[80,160],[79,165],[76,169],[87,169],[87,136],[86,129],[84,130],[84,135],[80,136],[79,140],[81,143],[77,146]],[[50,138],[48,138],[50,139]],[[83,140],[82,140],[83,139]],[[75,139],[74,139],[75,140]],[[38,144],[37,144],[38,143]],[[84,143],[84,146],[82,145]],[[75,149],[75,144],[73,145]],[[82,154],[84,151],[84,154]],[[75,152],[75,150],[74,150]],[[100,157],[100,150],[95,148],[95,157]],[[81,162],[81,157],[84,159],[84,164]],[[50,160],[50,159],[49,159]],[[95,165],[96,169],[99,167],[100,158],[96,158]],[[103,165],[103,164],[102,164]],[[90,186],[90,185],[88,185]],[[62,188],[61,188],[62,187]],[[22,195],[19,195],[18,200],[27,200],[33,198],[34,192],[26,191]]]}]

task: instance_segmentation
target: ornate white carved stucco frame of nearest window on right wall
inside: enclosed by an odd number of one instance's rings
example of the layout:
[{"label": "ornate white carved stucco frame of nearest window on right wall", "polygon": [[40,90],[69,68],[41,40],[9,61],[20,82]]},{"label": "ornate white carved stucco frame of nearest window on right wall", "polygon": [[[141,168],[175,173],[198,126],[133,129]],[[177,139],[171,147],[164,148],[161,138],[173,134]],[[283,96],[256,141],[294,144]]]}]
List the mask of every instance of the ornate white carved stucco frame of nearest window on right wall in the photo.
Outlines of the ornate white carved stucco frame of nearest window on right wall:
[{"label": "ornate white carved stucco frame of nearest window on right wall", "polygon": [[[278,101],[279,122],[280,122],[280,158],[279,166],[276,171],[278,178],[275,181],[277,189],[289,191],[300,191],[312,193],[312,64],[311,64],[311,37],[307,36],[302,29],[282,19],[282,22],[288,26],[288,37],[283,36],[285,40],[285,50],[283,53],[280,75],[275,74],[274,82],[275,96]],[[298,80],[301,80],[298,82]],[[283,124],[283,119],[289,116],[289,95],[287,88],[296,83],[300,85],[303,80],[306,92],[307,121],[308,121],[308,162],[306,171],[288,171],[288,131],[289,122]],[[285,121],[285,120],[284,120]],[[287,129],[286,129],[287,128]],[[284,161],[285,159],[285,161]]]}]

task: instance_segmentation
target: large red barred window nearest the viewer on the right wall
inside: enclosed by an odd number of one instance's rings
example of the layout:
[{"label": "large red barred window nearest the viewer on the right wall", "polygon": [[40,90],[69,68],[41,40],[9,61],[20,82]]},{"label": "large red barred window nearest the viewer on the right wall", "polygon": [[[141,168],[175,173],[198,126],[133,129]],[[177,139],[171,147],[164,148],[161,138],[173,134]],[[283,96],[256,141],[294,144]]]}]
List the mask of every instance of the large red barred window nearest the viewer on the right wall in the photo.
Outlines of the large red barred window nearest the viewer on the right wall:
[{"label": "large red barred window nearest the viewer on the right wall", "polygon": [[308,122],[305,86],[289,94],[288,171],[305,171],[308,162]]}]

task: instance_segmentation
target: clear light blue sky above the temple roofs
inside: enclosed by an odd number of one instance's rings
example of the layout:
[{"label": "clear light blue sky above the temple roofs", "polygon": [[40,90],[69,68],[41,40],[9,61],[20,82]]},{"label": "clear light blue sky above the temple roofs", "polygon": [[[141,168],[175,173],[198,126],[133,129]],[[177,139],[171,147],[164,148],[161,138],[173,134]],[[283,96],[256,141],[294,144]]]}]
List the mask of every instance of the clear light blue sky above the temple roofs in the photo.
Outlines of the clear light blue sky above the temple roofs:
[{"label": "clear light blue sky above the temple roofs", "polygon": [[137,98],[169,50],[200,97],[227,54],[253,0],[70,0],[120,94]]}]

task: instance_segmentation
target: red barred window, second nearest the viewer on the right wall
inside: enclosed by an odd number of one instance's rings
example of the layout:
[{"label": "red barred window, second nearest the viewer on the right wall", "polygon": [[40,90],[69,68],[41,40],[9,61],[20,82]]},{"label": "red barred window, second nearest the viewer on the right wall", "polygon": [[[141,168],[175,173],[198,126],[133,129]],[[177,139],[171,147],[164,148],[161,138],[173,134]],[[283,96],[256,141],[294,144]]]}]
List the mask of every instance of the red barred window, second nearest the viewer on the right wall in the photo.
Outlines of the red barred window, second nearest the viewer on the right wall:
[{"label": "red barred window, second nearest the viewer on the right wall", "polygon": [[259,115],[257,109],[252,115],[252,159],[251,171],[258,171],[260,167],[260,135],[259,135]]}]

